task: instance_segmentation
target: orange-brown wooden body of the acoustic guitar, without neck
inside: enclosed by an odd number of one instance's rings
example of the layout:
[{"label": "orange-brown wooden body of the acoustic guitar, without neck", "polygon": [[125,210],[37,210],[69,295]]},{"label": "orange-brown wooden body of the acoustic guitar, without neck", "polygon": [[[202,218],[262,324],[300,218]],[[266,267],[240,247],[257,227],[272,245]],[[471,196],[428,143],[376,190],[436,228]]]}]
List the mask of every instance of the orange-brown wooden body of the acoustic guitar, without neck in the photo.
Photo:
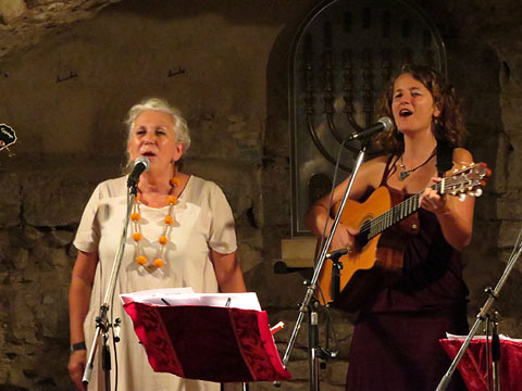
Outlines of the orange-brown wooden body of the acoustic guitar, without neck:
[{"label": "orange-brown wooden body of the acoustic guitar, without neck", "polygon": [[[390,210],[402,200],[399,192],[389,191],[385,187],[377,188],[363,203],[348,200],[340,217],[347,227],[360,229],[362,225]],[[339,205],[334,206],[337,213]],[[401,222],[413,226],[417,215]],[[340,283],[338,298],[332,297],[332,261],[325,260],[319,276],[319,286],[326,303],[353,312],[374,293],[385,280],[402,268],[403,238],[398,230],[387,230],[370,239],[366,243],[358,243],[349,254],[340,257]],[[338,249],[330,249],[338,250]],[[335,299],[335,301],[333,300]]]}]

